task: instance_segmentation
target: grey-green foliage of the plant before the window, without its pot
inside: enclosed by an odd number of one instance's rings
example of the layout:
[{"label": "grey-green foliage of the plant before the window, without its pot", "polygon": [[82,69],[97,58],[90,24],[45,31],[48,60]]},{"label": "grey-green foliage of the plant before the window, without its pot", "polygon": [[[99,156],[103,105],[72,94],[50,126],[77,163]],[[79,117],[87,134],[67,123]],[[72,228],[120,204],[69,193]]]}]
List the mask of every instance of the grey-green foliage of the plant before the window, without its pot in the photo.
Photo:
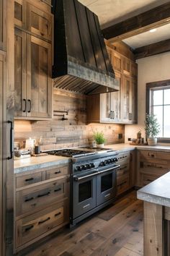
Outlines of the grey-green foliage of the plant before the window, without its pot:
[{"label": "grey-green foliage of the plant before the window, without its pot", "polygon": [[146,114],[146,137],[156,137],[160,132],[160,125],[155,115]]}]

